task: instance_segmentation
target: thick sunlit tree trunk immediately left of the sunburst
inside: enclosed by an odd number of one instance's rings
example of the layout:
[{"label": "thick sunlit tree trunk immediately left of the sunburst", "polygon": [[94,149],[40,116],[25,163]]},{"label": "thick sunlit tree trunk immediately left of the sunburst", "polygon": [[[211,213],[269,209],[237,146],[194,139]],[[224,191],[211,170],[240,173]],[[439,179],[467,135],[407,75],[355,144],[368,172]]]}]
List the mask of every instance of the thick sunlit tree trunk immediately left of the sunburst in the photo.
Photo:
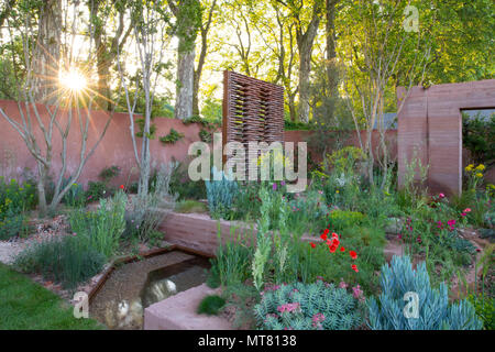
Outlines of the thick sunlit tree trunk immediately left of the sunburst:
[{"label": "thick sunlit tree trunk immediately left of the sunburst", "polygon": [[61,0],[46,0],[40,11],[38,37],[34,54],[33,98],[54,103],[61,61]]}]

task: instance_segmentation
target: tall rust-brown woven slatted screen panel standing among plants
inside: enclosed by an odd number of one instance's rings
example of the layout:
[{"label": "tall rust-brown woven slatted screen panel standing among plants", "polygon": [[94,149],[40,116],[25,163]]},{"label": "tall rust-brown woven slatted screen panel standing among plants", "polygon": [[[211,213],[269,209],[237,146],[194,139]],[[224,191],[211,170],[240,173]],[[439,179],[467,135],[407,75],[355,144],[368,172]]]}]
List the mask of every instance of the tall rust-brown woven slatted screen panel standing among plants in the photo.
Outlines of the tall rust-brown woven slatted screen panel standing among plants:
[{"label": "tall rust-brown woven slatted screen panel standing among plants", "polygon": [[226,70],[222,138],[223,145],[229,142],[242,143],[246,157],[249,142],[282,143],[284,87]]}]

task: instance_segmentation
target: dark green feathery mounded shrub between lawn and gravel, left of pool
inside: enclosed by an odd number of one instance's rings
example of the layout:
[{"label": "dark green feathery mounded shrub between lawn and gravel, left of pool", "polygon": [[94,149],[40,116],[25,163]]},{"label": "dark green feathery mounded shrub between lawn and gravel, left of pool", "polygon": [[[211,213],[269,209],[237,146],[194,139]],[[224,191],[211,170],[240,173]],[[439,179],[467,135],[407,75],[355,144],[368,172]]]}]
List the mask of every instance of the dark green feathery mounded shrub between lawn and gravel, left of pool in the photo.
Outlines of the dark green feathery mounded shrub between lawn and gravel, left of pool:
[{"label": "dark green feathery mounded shrub between lawn and gravel, left of pool", "polygon": [[62,283],[64,288],[75,288],[95,276],[105,263],[105,255],[77,235],[31,244],[15,258],[15,265],[23,272],[41,273],[45,279]]}]

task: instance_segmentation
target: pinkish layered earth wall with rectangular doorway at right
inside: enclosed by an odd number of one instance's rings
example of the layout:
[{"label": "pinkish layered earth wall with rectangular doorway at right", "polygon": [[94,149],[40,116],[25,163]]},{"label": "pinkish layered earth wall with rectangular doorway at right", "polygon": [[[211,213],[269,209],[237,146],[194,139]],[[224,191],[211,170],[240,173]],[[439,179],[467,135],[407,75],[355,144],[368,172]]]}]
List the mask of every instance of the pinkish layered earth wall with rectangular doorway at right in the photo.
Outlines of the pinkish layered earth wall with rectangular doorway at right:
[{"label": "pinkish layered earth wall with rectangular doorway at right", "polygon": [[[405,90],[399,88],[400,101]],[[428,187],[432,193],[462,190],[463,109],[495,108],[495,79],[414,87],[398,116],[398,173],[404,184],[406,164],[417,151],[429,165]]]}]

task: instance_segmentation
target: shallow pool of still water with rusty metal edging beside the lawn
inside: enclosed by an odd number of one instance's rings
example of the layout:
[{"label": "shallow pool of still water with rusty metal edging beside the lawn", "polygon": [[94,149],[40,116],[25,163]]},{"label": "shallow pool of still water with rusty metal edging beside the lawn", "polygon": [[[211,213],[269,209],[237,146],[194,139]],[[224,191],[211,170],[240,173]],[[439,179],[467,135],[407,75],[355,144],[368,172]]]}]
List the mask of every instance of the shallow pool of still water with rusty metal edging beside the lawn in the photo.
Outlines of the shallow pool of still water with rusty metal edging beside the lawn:
[{"label": "shallow pool of still water with rusty metal edging beside the lawn", "polygon": [[110,329],[140,330],[150,305],[206,282],[206,257],[173,250],[118,264],[91,297],[89,316]]}]

